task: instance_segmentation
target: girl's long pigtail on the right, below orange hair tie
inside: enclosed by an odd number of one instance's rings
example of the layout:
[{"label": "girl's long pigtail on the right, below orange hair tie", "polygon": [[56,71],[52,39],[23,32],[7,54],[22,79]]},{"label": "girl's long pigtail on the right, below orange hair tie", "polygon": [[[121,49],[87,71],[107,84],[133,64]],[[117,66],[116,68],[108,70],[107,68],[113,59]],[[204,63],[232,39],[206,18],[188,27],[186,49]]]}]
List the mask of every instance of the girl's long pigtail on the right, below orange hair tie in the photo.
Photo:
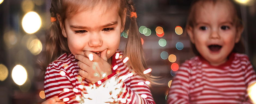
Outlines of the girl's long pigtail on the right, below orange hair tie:
[{"label": "girl's long pigtail on the right, below orange hair tie", "polygon": [[[136,12],[136,9],[133,6],[132,0],[128,1],[128,9],[130,13]],[[134,69],[136,73],[144,77],[146,80],[152,81],[153,79],[150,77],[150,73],[146,75],[143,74],[143,71],[147,69],[147,64],[144,57],[141,37],[139,34],[137,22],[136,22],[136,16],[130,16],[130,18],[131,18],[131,21],[130,21],[126,48],[124,50],[124,55],[129,57],[128,62],[130,63],[130,67],[132,67],[132,69]]]}]

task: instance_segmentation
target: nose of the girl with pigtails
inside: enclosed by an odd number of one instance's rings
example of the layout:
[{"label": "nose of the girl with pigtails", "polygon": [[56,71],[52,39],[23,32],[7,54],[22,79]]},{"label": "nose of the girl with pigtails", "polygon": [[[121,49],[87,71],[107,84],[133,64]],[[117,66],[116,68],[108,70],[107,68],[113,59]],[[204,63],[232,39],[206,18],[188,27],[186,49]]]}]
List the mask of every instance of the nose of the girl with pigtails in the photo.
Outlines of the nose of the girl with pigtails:
[{"label": "nose of the girl with pigtails", "polygon": [[101,38],[100,34],[92,34],[90,36],[90,41],[88,44],[90,47],[102,46],[102,38]]}]

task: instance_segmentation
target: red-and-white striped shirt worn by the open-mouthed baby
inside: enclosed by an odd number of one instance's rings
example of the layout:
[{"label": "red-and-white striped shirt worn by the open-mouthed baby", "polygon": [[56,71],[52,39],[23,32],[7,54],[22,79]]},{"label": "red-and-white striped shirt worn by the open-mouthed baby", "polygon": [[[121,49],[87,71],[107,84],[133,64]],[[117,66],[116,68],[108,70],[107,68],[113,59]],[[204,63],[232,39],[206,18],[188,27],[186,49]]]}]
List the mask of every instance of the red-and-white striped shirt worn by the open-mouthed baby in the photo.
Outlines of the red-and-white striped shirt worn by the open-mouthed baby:
[{"label": "red-and-white striped shirt worn by the open-mouthed baby", "polygon": [[220,66],[203,57],[186,60],[174,77],[169,104],[251,104],[247,87],[256,81],[255,71],[244,54],[231,53]]}]

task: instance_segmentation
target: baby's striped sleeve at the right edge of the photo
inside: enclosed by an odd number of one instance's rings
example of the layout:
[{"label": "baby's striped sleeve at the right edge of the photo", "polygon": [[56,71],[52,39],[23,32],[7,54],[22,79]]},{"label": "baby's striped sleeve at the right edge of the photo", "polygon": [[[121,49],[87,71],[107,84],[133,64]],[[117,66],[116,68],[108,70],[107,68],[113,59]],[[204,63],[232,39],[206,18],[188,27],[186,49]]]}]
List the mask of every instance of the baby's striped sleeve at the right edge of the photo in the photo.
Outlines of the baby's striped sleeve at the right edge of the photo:
[{"label": "baby's striped sleeve at the right edge of the photo", "polygon": [[[241,60],[242,60],[242,62],[245,62],[244,77],[245,77],[245,84],[246,84],[247,92],[248,92],[248,90],[250,89],[248,87],[251,84],[254,84],[256,82],[256,74],[255,74],[255,71],[252,67],[252,64],[249,61],[249,58],[247,56],[241,57]],[[252,103],[252,101],[249,99],[249,95],[248,95],[247,92],[246,92],[246,95],[245,95],[244,102],[242,102],[242,104],[251,104]]]}]

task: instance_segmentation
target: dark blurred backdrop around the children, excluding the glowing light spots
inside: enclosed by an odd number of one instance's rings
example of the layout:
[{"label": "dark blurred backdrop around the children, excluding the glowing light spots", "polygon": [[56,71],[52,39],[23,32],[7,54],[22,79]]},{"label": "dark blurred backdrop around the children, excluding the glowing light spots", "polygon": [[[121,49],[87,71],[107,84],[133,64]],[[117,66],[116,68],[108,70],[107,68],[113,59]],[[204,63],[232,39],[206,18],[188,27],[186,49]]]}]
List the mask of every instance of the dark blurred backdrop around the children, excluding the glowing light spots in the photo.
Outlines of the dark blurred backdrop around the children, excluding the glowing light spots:
[{"label": "dark blurred backdrop around the children, excluding the glowing light spots", "polygon": [[[29,8],[31,5],[23,3],[31,2],[34,8],[24,11],[22,8]],[[254,1],[254,0],[251,0]],[[191,0],[135,0],[135,7],[138,15],[138,26],[146,26],[151,29],[151,35],[141,34],[144,40],[144,52],[148,67],[152,69],[154,76],[161,76],[158,83],[161,85],[151,85],[151,93],[157,104],[166,103],[166,94],[169,89],[167,83],[173,79],[170,74],[171,62],[168,59],[163,60],[160,57],[162,51],[168,54],[175,54],[177,60],[175,63],[180,65],[186,59],[194,56],[190,49],[190,40],[183,30],[183,34],[177,35],[175,27],[185,28],[186,18]],[[24,37],[37,37],[44,47],[45,30],[51,24],[50,22],[50,0],[4,0],[0,4],[0,64],[8,69],[8,77],[0,81],[0,104],[38,104],[44,101],[39,97],[39,92],[44,90],[43,72],[39,69],[36,61],[38,57],[33,55],[23,44]],[[39,30],[33,34],[26,33],[22,28],[22,18],[28,11],[35,11],[42,19],[42,25]],[[246,53],[252,64],[256,66],[256,3],[250,5],[241,5],[242,19],[245,30],[242,34]],[[161,26],[164,30],[163,37],[157,37],[156,27]],[[10,34],[13,31],[15,44],[8,44],[4,41],[4,34]],[[12,35],[13,35],[12,34]],[[158,44],[159,39],[165,39],[167,44],[161,47]],[[126,38],[121,37],[120,50],[123,51]],[[175,45],[182,42],[184,48],[177,50]],[[25,67],[28,73],[28,79],[24,85],[17,85],[11,76],[11,72],[16,65]],[[254,67],[255,69],[255,67]],[[0,69],[0,72],[2,69]],[[1,75],[1,73],[0,73]]]}]

